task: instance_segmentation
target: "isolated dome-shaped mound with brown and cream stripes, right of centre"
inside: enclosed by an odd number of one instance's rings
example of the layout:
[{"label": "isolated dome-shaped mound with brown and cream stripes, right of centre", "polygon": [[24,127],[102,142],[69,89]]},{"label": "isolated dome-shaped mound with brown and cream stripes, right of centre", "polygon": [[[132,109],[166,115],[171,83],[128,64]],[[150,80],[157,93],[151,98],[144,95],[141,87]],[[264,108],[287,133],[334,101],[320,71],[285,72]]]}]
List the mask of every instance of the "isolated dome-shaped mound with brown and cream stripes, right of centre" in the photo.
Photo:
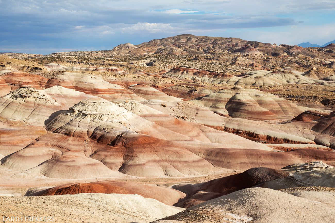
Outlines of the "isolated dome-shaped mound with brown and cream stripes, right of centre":
[{"label": "isolated dome-shaped mound with brown and cream stripes, right of centre", "polygon": [[293,118],[306,110],[273,94],[241,87],[220,90],[192,102],[223,116],[246,119]]}]

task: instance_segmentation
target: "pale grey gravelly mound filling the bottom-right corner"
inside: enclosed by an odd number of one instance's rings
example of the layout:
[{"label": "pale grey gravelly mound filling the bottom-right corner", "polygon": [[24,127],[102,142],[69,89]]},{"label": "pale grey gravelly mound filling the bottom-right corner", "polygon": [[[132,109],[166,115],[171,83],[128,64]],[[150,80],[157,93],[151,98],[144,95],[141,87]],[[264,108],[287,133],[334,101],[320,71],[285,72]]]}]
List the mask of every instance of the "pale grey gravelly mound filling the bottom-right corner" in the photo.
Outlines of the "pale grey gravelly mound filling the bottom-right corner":
[{"label": "pale grey gravelly mound filling the bottom-right corner", "polygon": [[[320,194],[320,192],[317,193]],[[329,195],[329,192],[326,193]],[[316,201],[315,197],[317,196],[305,196],[306,198],[297,196],[268,188],[248,188],[193,206],[162,220],[181,220],[186,223],[333,222],[335,211],[332,208],[332,203],[320,199],[318,199],[320,201]]]}]

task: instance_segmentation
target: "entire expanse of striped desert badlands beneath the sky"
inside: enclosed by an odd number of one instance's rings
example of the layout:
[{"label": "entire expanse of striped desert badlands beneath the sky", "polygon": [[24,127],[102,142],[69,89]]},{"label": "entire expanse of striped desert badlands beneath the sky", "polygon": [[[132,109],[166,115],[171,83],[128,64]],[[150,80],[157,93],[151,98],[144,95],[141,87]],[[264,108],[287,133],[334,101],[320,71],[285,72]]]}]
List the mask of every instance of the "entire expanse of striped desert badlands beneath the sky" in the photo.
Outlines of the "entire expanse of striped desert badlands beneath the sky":
[{"label": "entire expanse of striped desert badlands beneath the sky", "polygon": [[335,51],[177,35],[0,56],[0,215],[334,222]]}]

